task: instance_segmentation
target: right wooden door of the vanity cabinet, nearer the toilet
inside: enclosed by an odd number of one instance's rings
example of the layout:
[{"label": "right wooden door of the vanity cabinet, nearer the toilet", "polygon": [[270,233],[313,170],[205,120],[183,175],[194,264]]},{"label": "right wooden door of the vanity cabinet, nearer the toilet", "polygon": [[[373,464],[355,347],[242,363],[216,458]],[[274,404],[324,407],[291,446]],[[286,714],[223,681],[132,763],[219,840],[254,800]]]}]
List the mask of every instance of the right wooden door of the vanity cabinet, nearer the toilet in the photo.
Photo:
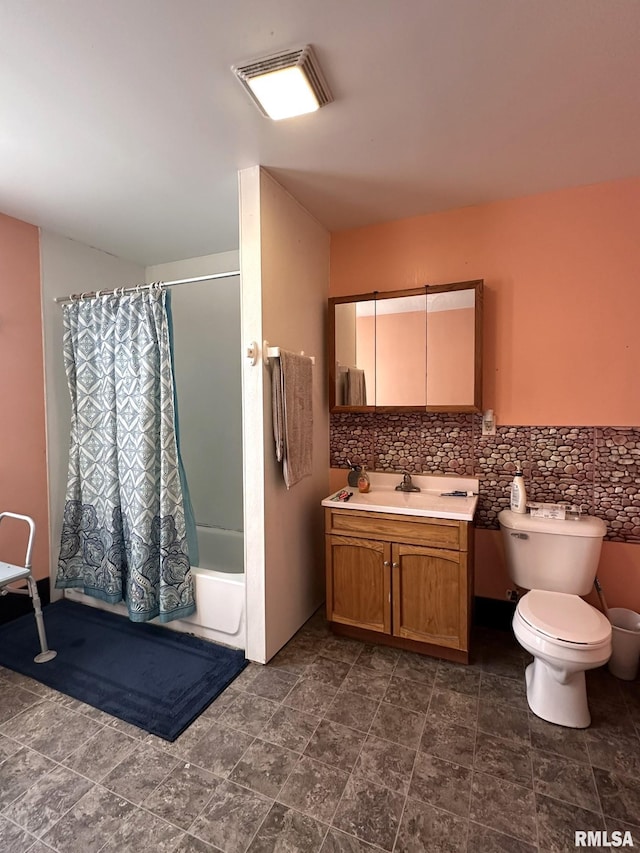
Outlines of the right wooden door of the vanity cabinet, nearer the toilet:
[{"label": "right wooden door of the vanity cabinet, nearer the toilet", "polygon": [[394,545],[392,572],[393,634],[466,650],[466,554]]}]

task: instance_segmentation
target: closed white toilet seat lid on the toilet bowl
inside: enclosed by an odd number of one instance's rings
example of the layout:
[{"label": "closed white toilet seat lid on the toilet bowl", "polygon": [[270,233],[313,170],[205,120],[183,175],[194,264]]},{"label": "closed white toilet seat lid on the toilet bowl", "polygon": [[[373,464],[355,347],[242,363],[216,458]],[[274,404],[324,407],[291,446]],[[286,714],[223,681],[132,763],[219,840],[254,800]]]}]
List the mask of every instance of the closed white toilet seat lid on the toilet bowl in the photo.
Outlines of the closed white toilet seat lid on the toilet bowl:
[{"label": "closed white toilet seat lid on the toilet bowl", "polygon": [[585,649],[611,638],[611,624],[577,595],[533,589],[518,602],[517,611],[529,627],[556,643]]}]

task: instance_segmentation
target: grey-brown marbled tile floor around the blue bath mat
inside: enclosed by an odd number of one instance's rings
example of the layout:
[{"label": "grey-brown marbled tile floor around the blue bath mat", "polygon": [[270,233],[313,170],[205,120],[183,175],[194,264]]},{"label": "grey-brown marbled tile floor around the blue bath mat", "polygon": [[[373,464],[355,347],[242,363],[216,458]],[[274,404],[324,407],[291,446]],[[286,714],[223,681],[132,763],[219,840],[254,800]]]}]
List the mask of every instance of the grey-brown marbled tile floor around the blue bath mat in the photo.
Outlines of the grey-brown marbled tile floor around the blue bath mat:
[{"label": "grey-brown marbled tile floor around the blue bath mat", "polygon": [[[592,726],[527,710],[524,654],[464,667],[316,614],[173,744],[0,669],[2,853],[525,853],[640,846],[640,684],[589,675]],[[593,848],[592,848],[593,849]]]}]

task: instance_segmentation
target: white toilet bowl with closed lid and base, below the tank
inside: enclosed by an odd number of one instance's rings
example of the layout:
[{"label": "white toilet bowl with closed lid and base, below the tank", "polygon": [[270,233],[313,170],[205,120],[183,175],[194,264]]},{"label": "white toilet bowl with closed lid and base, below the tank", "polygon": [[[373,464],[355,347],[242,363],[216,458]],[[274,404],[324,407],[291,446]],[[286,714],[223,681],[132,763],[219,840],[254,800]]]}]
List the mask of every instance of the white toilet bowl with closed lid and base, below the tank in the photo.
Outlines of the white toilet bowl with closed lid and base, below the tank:
[{"label": "white toilet bowl with closed lid and base, below the tank", "polygon": [[525,674],[533,713],[559,726],[589,726],[585,672],[611,656],[609,621],[577,595],[531,590],[518,602],[513,632],[534,658]]}]

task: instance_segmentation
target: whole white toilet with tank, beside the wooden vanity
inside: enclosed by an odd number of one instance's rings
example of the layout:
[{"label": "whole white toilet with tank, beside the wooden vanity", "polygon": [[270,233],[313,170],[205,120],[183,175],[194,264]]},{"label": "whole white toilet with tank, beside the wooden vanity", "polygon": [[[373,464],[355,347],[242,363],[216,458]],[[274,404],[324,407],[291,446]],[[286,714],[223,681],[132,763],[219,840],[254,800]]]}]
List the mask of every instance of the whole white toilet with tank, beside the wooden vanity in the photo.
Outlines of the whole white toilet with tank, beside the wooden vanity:
[{"label": "whole white toilet with tank, beside the wooden vanity", "polygon": [[536,716],[582,729],[591,723],[585,671],[611,656],[611,624],[580,596],[593,588],[604,522],[593,516],[560,521],[498,513],[507,568],[529,590],[520,598],[513,631],[533,655],[526,669],[527,702]]}]

